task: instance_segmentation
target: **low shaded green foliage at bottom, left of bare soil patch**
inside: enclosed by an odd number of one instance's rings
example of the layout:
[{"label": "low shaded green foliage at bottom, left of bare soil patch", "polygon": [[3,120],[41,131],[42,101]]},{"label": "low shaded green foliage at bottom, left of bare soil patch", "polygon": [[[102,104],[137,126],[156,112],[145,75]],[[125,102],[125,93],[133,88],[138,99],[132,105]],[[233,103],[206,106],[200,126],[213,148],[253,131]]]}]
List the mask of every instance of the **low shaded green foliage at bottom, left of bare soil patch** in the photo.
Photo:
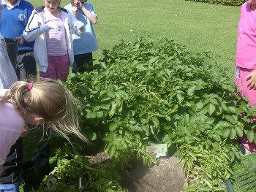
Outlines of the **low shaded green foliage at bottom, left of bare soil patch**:
[{"label": "low shaded green foliage at bottom, left of bare soil patch", "polygon": [[121,175],[115,164],[91,166],[88,158],[64,150],[58,150],[54,158],[57,165],[39,191],[126,191],[118,183]]}]

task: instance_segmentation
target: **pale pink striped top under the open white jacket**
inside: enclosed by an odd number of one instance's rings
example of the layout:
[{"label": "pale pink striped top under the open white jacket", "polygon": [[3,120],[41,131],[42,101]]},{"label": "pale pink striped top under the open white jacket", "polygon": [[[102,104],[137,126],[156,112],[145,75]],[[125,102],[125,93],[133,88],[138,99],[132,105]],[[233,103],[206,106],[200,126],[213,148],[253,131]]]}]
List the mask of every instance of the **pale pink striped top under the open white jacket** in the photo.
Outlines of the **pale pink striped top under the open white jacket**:
[{"label": "pale pink striped top under the open white jacket", "polygon": [[61,18],[46,18],[46,22],[59,23],[59,29],[50,29],[45,32],[47,54],[61,56],[67,54],[66,31]]}]

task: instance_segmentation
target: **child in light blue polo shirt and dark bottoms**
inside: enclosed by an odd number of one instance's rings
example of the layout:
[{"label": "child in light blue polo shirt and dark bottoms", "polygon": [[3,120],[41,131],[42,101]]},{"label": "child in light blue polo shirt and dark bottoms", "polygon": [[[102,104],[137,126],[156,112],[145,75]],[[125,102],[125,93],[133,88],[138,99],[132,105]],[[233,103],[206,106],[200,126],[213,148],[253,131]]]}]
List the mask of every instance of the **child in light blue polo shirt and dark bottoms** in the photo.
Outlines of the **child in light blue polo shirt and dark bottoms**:
[{"label": "child in light blue polo shirt and dark bottoms", "polygon": [[97,50],[97,41],[92,24],[97,23],[98,16],[94,12],[92,4],[88,3],[87,0],[70,0],[70,4],[64,8],[72,12],[86,26],[86,34],[82,37],[78,37],[75,34],[72,35],[75,65],[78,68],[74,69],[74,71],[91,71],[93,66],[92,52]]}]

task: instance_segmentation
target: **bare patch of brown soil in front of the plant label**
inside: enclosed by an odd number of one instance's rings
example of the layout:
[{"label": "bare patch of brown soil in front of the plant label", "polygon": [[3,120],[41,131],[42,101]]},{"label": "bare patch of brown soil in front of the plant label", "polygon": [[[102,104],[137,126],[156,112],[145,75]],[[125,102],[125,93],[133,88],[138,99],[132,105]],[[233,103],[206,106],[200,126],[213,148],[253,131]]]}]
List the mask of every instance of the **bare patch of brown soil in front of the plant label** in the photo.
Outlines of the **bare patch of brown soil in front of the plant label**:
[{"label": "bare patch of brown soil in front of the plant label", "polygon": [[160,158],[152,167],[134,164],[122,184],[131,192],[179,192],[187,179],[178,158]]}]

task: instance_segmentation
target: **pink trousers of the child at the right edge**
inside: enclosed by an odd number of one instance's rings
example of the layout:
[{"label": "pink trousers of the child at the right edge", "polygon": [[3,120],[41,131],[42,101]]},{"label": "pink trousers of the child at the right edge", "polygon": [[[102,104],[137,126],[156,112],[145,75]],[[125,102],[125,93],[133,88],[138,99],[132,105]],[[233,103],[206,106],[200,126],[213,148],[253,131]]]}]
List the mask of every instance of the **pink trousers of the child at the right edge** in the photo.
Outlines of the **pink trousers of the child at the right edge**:
[{"label": "pink trousers of the child at the right edge", "polygon": [[248,80],[246,77],[254,72],[256,69],[245,69],[236,67],[236,84],[241,90],[241,96],[249,99],[252,107],[256,107],[256,90],[248,88]]}]

